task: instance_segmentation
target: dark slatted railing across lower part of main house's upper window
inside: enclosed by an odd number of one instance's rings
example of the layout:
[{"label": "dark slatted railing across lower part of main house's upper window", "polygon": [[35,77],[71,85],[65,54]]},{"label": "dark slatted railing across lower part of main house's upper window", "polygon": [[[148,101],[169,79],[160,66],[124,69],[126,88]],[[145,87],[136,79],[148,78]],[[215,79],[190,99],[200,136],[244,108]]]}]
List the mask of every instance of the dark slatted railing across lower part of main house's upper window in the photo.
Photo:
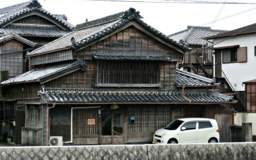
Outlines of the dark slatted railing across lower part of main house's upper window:
[{"label": "dark slatted railing across lower part of main house's upper window", "polygon": [[106,71],[98,72],[98,83],[101,84],[159,84],[159,70],[141,71]]}]

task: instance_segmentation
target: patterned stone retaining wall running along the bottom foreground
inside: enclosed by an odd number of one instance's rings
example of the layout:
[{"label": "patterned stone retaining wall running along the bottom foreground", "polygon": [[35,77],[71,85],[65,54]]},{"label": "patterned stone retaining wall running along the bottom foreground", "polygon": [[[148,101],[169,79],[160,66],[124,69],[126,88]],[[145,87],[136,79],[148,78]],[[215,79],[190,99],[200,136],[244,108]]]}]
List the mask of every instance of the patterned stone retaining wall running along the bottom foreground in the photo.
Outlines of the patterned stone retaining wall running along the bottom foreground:
[{"label": "patterned stone retaining wall running along the bottom foreground", "polygon": [[0,147],[0,159],[256,159],[256,143]]}]

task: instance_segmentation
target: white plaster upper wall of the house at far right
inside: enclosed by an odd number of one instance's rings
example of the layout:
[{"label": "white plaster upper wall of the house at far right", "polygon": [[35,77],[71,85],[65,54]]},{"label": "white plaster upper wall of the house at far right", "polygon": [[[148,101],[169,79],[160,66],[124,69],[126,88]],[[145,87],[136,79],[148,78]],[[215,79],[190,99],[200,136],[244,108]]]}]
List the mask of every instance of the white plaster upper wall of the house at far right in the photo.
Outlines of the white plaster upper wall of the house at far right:
[{"label": "white plaster upper wall of the house at far right", "polygon": [[[229,45],[240,45],[247,47],[247,62],[222,64],[222,70],[236,91],[244,91],[244,81],[256,79],[256,56],[254,47],[256,46],[256,33],[249,35],[234,36],[228,40],[225,38],[214,39],[214,47],[224,47]],[[217,44],[218,42],[220,44]],[[236,86],[235,86],[236,84]]]}]

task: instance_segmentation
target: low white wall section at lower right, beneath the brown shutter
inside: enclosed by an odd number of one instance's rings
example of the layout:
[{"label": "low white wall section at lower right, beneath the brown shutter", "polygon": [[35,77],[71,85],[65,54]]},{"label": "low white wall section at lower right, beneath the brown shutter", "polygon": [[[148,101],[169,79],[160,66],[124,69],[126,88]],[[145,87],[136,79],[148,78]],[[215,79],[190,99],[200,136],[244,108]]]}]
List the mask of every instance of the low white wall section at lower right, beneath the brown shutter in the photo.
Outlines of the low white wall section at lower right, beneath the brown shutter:
[{"label": "low white wall section at lower right, beneath the brown shutter", "polygon": [[242,125],[242,123],[252,123],[252,135],[256,135],[256,113],[236,113],[234,116],[234,124]]}]

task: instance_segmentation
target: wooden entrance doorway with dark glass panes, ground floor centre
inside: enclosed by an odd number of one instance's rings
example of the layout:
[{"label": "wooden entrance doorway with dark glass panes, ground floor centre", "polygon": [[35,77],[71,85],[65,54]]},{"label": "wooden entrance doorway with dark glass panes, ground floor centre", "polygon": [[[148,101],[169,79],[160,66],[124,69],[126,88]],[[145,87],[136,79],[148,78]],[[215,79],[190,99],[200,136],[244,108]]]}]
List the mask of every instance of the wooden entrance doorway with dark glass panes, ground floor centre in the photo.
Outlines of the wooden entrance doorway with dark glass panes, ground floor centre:
[{"label": "wooden entrance doorway with dark glass panes, ground floor centre", "polygon": [[124,111],[104,111],[101,120],[101,144],[124,144]]}]

